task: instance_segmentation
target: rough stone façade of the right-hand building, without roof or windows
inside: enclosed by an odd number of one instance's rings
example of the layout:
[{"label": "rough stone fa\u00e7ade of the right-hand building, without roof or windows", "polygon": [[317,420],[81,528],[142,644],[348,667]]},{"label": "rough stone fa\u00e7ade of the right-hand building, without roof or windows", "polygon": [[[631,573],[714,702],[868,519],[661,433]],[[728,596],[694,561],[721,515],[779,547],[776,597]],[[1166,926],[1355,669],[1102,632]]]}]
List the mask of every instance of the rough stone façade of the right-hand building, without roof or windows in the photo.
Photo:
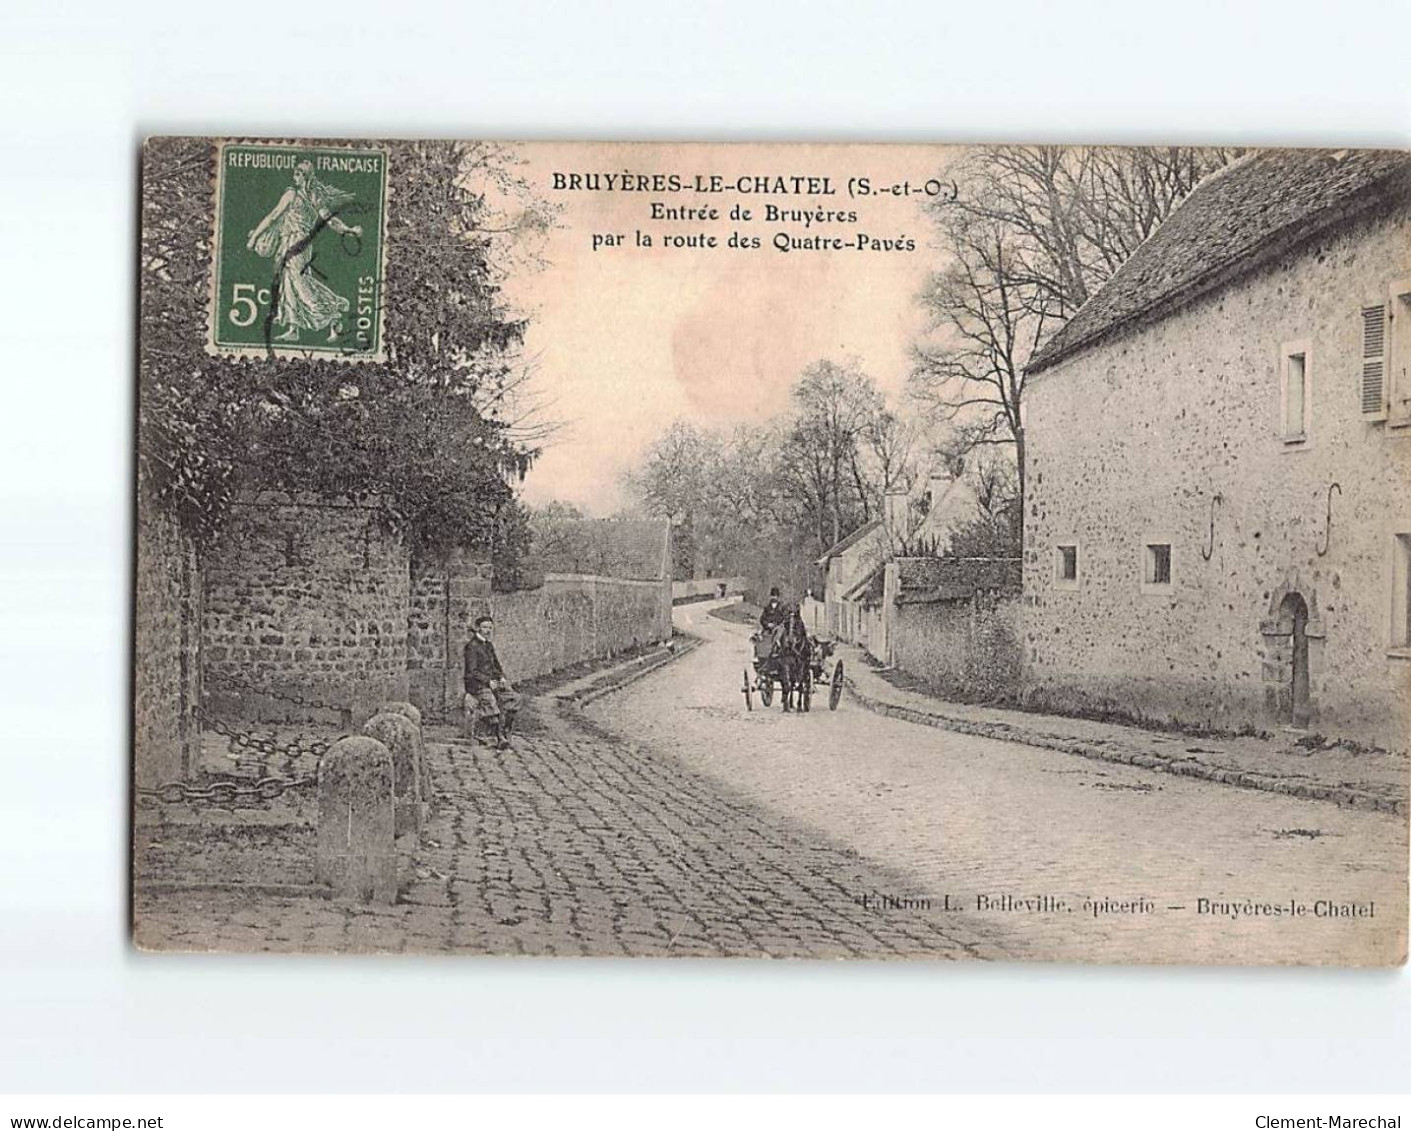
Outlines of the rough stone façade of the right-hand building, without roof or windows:
[{"label": "rough stone fa\u00e7ade of the right-hand building, without roof or windows", "polygon": [[[1229,730],[1291,722],[1278,609],[1297,592],[1311,612],[1308,728],[1407,746],[1411,659],[1390,647],[1390,626],[1411,429],[1360,416],[1359,312],[1408,275],[1408,213],[1383,212],[1030,379],[1023,643],[1036,705]],[[1308,351],[1302,444],[1278,430],[1291,343]],[[1054,567],[1068,542],[1071,587]],[[1168,587],[1143,584],[1149,542],[1171,544]]]}]

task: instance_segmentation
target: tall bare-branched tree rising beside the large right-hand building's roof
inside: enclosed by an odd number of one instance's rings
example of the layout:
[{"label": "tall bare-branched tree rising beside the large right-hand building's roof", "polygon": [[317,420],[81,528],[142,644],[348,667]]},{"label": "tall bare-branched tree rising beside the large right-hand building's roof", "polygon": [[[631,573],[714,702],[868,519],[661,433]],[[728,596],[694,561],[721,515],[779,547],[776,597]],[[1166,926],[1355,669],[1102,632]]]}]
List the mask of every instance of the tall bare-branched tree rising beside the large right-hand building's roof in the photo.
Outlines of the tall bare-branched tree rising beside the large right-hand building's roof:
[{"label": "tall bare-branched tree rising beside the large right-hand building's roof", "polygon": [[1237,151],[983,147],[931,206],[947,264],[920,302],[912,392],[961,447],[1012,447],[1024,489],[1024,367],[1044,340]]}]

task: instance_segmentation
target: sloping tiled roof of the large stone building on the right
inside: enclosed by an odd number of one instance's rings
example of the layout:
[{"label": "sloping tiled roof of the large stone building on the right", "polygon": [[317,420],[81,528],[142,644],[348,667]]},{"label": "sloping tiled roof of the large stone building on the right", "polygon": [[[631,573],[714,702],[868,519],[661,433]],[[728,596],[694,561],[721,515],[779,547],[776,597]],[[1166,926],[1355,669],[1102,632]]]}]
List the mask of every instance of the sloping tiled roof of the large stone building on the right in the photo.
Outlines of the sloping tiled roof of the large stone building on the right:
[{"label": "sloping tiled roof of the large stone building on the right", "polygon": [[1411,183],[1411,152],[1261,149],[1212,173],[1027,365],[1044,369]]}]

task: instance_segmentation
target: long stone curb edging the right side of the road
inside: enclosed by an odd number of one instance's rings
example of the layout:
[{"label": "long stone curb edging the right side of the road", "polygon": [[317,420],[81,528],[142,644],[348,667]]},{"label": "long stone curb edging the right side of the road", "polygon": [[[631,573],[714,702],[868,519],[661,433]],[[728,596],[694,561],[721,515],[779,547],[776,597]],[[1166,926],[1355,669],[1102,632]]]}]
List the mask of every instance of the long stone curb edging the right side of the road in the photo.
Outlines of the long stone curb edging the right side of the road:
[{"label": "long stone curb edging the right side of the road", "polygon": [[868,711],[878,715],[913,722],[920,726],[934,726],[941,730],[955,730],[961,735],[975,735],[978,738],[998,739],[1000,742],[1020,742],[1026,746],[1040,746],[1048,750],[1061,750],[1065,754],[1092,759],[1094,762],[1112,762],[1122,766],[1137,766],[1143,770],[1175,774],[1177,777],[1198,777],[1206,781],[1218,781],[1222,785],[1236,785],[1246,790],[1261,790],[1264,793],[1287,794],[1288,797],[1302,797],[1314,801],[1332,801],[1353,809],[1367,809],[1370,812],[1391,812],[1405,815],[1407,802],[1394,797],[1352,785],[1328,785],[1316,781],[1295,780],[1278,774],[1263,774],[1254,770],[1232,770],[1223,766],[1209,766],[1189,757],[1168,757],[1149,750],[1134,750],[1132,747],[1106,746],[1074,739],[1065,735],[1046,735],[1041,730],[1015,726],[1007,722],[975,722],[974,719],[958,719],[951,715],[921,711],[914,707],[883,702],[858,690],[856,681],[851,675],[844,675],[848,691]]}]

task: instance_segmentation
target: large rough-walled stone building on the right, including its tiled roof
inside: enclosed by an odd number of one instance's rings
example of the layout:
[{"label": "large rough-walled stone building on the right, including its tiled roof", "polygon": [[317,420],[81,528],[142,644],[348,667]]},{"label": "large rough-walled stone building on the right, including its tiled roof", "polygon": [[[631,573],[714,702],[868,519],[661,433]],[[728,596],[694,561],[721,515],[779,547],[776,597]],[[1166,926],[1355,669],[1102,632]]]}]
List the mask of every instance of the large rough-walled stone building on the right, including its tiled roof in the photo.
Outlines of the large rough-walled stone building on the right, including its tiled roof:
[{"label": "large rough-walled stone building on the right, including its tiled roof", "polygon": [[1408,185],[1243,158],[1033,358],[1031,701],[1405,749]]}]

